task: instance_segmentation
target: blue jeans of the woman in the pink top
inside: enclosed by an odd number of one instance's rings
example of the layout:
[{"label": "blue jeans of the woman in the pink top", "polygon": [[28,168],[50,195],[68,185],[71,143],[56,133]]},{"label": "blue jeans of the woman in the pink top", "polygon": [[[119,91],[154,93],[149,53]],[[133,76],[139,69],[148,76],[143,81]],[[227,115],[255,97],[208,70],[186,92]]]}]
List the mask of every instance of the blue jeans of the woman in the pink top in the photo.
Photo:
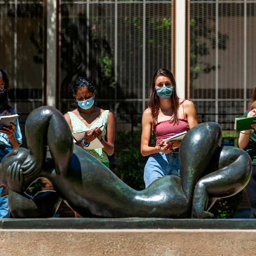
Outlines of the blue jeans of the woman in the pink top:
[{"label": "blue jeans of the woman in the pink top", "polygon": [[153,181],[166,175],[180,177],[179,153],[150,155],[144,168],[144,182],[148,187]]}]

